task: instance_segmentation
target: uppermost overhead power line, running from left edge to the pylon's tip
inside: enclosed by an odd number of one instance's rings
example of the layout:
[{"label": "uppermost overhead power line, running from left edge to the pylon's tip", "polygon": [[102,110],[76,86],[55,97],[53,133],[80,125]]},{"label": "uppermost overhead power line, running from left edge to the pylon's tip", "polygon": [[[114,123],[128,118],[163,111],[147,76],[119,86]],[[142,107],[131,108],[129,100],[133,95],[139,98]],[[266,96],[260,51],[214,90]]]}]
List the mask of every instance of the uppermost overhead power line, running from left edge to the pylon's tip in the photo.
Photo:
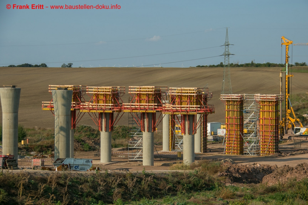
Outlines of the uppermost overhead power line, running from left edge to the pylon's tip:
[{"label": "uppermost overhead power line, running from left edge to the pylon's tip", "polygon": [[[223,29],[223,28],[219,28]],[[154,37],[146,37],[146,38],[133,38],[133,39],[125,39],[125,40],[115,40],[115,41],[99,41],[99,42],[87,42],[87,43],[61,43],[61,44],[41,44],[41,45],[0,45],[0,47],[9,47],[9,46],[43,46],[43,45],[76,45],[76,44],[91,44],[91,43],[108,43],[108,42],[118,42],[118,41],[133,41],[133,40],[142,40],[142,39],[150,39],[150,38],[160,38],[160,37],[168,37],[168,36],[178,36],[178,35],[185,35],[185,34],[194,34],[194,33],[201,33],[205,31],[212,31],[218,29],[208,29],[203,31],[195,31],[183,34],[172,34],[172,35],[165,35],[165,36],[154,36]]]}]

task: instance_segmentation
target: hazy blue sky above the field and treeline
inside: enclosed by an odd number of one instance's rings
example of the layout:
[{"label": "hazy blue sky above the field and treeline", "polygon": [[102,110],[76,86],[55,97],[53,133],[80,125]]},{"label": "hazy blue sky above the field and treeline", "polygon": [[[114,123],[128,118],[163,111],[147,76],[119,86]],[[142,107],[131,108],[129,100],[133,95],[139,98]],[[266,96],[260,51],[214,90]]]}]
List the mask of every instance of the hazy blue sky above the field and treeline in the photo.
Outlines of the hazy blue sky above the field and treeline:
[{"label": "hazy blue sky above the field and treeline", "polygon": [[[6,5],[115,5],[119,10],[16,10]],[[307,0],[298,1],[35,1],[0,2],[0,66],[47,63],[60,67],[140,66],[175,61],[163,67],[219,64],[225,27],[230,62],[281,62],[281,36],[308,43]],[[201,31],[201,32],[199,32]],[[192,33],[196,32],[196,33]],[[190,34],[185,34],[190,33]],[[174,35],[182,34],[182,35]],[[168,36],[172,35],[172,36]],[[156,38],[151,38],[156,36]],[[160,36],[160,37],[157,37]],[[119,41],[136,38],[139,40]],[[103,42],[114,41],[114,42]],[[101,42],[101,43],[88,43]],[[87,43],[87,44],[75,44]],[[48,45],[46,45],[48,44]],[[50,45],[51,44],[51,45]],[[71,45],[54,45],[71,44]],[[12,46],[34,45],[34,46]],[[133,57],[201,49],[147,57]],[[284,47],[283,47],[284,49]],[[290,56],[292,53],[290,52]],[[308,62],[308,46],[294,46],[293,60]],[[98,61],[91,61],[98,60]],[[79,61],[79,62],[75,62]],[[56,62],[56,63],[53,63]],[[283,59],[284,62],[284,59]]]}]

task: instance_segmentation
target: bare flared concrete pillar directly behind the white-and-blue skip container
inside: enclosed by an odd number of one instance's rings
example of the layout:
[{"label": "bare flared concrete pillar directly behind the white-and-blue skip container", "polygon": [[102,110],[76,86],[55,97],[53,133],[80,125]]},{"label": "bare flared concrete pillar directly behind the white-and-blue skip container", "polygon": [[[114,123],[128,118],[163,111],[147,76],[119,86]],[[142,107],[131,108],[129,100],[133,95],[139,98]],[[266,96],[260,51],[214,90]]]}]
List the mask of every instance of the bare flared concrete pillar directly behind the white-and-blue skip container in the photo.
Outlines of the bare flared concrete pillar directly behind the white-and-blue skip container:
[{"label": "bare flared concrete pillar directly behind the white-and-blue skip container", "polygon": [[55,160],[71,156],[71,104],[73,91],[52,90],[55,108]]}]

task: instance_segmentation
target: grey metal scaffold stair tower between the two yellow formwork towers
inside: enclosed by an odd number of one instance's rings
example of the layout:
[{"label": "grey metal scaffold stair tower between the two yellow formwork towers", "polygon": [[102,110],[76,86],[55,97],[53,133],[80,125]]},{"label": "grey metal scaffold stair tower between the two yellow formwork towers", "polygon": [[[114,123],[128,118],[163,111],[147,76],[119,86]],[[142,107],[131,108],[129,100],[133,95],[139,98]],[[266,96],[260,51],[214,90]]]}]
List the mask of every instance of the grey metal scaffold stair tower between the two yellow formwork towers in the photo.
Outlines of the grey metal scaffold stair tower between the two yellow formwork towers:
[{"label": "grey metal scaffold stair tower between the two yellow formwork towers", "polygon": [[254,94],[244,94],[244,155],[260,155],[259,105]]}]

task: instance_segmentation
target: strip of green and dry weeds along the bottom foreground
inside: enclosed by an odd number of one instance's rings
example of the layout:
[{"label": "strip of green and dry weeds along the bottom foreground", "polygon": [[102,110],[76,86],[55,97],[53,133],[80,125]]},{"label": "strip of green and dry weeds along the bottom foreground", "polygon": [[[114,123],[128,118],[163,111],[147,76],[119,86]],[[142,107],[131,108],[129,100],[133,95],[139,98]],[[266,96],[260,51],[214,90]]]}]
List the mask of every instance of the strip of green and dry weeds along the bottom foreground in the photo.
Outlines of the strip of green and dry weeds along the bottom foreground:
[{"label": "strip of green and dry weeds along the bottom foreground", "polygon": [[[178,164],[178,168],[183,165]],[[308,179],[268,186],[225,184],[221,162],[152,172],[0,172],[0,204],[307,204]],[[184,168],[188,168],[184,166]]]}]

